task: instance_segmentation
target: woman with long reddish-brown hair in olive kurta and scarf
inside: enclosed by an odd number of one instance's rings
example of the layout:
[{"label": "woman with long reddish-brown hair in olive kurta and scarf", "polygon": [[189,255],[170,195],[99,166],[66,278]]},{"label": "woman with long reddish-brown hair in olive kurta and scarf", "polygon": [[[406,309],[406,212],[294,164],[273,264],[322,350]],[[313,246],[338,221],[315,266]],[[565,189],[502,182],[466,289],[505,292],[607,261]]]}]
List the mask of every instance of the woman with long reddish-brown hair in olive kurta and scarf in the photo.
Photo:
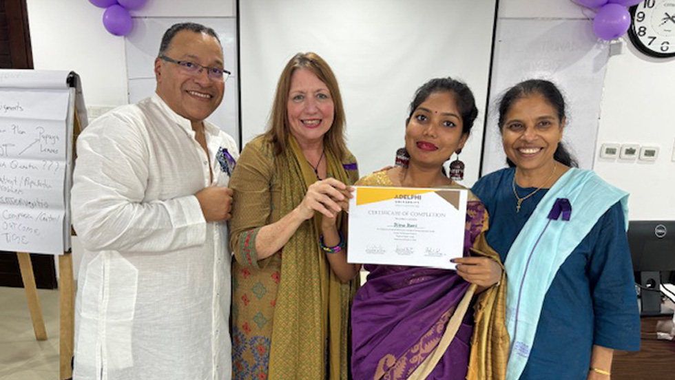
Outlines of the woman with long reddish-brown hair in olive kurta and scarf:
[{"label": "woman with long reddish-brown hair in olive kurta and scarf", "polygon": [[[298,96],[303,76],[311,91]],[[326,254],[319,243],[320,234],[326,246],[344,243],[343,213],[322,207],[340,209],[346,198],[335,199],[342,198],[335,189],[346,194],[358,178],[342,138],[340,93],[326,63],[308,53],[291,59],[276,98],[271,129],[247,144],[230,180],[233,378],[346,379],[358,267],[346,263],[344,249]],[[294,109],[302,110],[295,119]],[[298,130],[297,120],[310,127]],[[318,202],[308,208],[308,198]]]}]

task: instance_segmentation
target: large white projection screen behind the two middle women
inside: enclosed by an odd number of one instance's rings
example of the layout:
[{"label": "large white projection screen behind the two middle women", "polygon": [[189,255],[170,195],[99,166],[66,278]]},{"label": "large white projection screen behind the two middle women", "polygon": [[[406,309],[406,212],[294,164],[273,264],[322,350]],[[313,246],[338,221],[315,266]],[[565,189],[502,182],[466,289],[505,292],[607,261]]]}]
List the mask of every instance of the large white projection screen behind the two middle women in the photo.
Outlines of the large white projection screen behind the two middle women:
[{"label": "large white projection screen behind the two middle women", "polygon": [[393,165],[415,89],[453,76],[473,90],[479,119],[461,155],[477,179],[495,0],[246,0],[239,3],[242,142],[262,133],[276,83],[297,52],[335,72],[347,145],[366,174]]}]

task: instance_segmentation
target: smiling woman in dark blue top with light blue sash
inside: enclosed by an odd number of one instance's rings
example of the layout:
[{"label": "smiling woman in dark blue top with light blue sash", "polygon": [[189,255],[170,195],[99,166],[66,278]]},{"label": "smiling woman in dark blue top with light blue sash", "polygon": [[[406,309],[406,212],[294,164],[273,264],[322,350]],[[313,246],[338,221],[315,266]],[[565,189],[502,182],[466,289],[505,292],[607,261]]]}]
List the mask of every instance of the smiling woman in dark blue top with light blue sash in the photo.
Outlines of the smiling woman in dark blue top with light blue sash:
[{"label": "smiling woman in dark blue top with light blue sash", "polygon": [[610,379],[613,350],[639,348],[627,193],[575,168],[565,121],[553,83],[508,89],[499,129],[510,167],[472,188],[508,277],[506,379]]}]

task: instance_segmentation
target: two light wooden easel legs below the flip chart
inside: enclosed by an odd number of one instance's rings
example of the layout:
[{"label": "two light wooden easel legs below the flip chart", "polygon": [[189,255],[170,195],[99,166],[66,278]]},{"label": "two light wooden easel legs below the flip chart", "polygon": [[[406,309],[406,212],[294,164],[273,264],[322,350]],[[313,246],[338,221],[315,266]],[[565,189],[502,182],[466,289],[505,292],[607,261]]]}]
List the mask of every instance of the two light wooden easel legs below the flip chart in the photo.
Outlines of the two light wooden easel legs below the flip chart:
[{"label": "two light wooden easel legs below the flip chart", "polygon": [[[17,257],[19,257],[21,278],[23,279],[25,296],[28,298],[28,308],[30,309],[30,318],[33,321],[35,339],[39,341],[47,340],[47,330],[45,330],[42,306],[40,306],[40,299],[37,295],[30,254],[27,252],[17,252]],[[59,309],[61,319],[59,326],[59,379],[65,380],[72,377],[70,361],[73,356],[75,330],[75,292],[73,286],[72,255],[70,252],[59,256],[59,275]]]}]

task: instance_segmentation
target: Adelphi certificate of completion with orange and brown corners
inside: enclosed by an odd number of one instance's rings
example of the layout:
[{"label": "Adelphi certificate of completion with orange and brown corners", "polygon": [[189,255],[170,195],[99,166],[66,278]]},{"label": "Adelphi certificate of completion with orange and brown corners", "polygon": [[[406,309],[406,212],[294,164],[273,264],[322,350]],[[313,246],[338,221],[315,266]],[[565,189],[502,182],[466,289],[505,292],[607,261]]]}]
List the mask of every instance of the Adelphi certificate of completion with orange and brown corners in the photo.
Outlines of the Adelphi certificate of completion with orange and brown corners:
[{"label": "Adelphi certificate of completion with orange and brown corners", "polygon": [[466,224],[466,189],[356,186],[347,261],[454,269]]}]

